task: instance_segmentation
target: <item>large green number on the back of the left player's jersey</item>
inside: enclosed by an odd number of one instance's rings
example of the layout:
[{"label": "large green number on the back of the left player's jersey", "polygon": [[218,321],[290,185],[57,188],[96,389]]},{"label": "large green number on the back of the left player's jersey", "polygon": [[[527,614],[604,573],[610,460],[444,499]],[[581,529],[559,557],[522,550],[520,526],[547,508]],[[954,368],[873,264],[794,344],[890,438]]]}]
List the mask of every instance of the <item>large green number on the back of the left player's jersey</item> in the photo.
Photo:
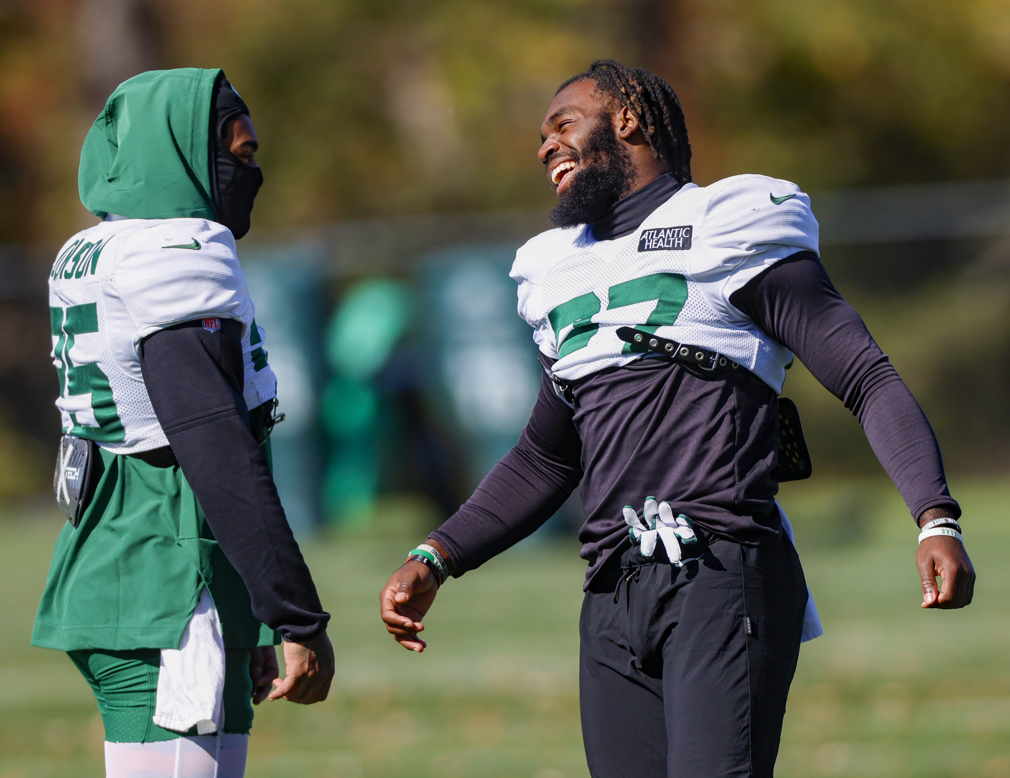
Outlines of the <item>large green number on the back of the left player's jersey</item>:
[{"label": "large green number on the back of the left player's jersey", "polygon": [[90,302],[86,305],[71,305],[68,308],[49,308],[49,324],[57,345],[53,353],[60,361],[60,396],[91,395],[91,408],[98,426],[83,426],[77,414],[71,413],[73,423],[67,434],[76,434],[99,443],[122,443],[126,430],[112,398],[112,388],[108,377],[95,363],[75,365],[70,357],[77,335],[98,331],[98,307]]}]

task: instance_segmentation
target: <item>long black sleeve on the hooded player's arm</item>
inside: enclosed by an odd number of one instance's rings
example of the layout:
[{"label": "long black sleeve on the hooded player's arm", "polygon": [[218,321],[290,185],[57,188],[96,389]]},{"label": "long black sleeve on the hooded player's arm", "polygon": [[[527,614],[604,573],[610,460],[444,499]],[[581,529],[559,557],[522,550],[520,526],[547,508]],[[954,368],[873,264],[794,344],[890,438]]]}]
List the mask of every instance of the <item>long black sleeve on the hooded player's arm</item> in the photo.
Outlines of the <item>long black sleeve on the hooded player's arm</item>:
[{"label": "long black sleeve on the hooded player's arm", "polygon": [[252,612],[287,641],[326,628],[315,584],[281,507],[242,398],[241,324],[221,319],[163,329],[140,346],[158,420],[221,551],[248,589]]}]

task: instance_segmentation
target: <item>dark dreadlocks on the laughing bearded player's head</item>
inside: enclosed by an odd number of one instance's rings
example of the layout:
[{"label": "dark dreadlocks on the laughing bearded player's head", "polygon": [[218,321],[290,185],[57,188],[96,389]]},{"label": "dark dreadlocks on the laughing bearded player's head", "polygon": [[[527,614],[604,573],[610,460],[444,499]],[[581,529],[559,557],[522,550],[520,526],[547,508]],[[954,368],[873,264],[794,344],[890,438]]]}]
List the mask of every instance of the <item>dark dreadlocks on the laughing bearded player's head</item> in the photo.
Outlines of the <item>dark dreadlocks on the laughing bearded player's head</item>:
[{"label": "dark dreadlocks on the laughing bearded player's head", "polygon": [[643,68],[627,68],[614,60],[597,60],[589,70],[562,84],[558,92],[569,84],[589,80],[596,82],[598,90],[613,95],[621,105],[634,112],[652,156],[666,162],[681,184],[690,182],[691,144],[681,101],[674,88]]}]

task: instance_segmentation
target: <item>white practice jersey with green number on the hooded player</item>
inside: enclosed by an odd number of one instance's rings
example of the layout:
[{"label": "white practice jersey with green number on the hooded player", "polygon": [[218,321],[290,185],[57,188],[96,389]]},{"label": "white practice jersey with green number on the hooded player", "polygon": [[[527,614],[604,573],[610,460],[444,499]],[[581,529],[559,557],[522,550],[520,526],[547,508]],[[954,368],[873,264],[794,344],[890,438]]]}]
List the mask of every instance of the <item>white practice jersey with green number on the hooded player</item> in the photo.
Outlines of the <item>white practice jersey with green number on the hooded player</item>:
[{"label": "white practice jersey with green number on the hooded player", "polygon": [[245,404],[277,396],[263,329],[224,226],[201,218],[103,221],[78,232],[49,274],[53,362],[64,433],[116,454],[168,446],[140,373],[140,342],[183,321],[242,324]]}]

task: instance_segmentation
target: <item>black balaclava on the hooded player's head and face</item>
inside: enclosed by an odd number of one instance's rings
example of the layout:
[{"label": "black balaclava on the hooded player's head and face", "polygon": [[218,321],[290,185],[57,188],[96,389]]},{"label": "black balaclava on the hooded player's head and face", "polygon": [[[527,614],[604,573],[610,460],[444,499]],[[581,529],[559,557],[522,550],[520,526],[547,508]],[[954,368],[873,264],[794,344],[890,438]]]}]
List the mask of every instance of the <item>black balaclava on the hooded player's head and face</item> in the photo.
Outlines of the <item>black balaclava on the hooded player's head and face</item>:
[{"label": "black balaclava on the hooded player's head and face", "polygon": [[263,171],[246,165],[224,144],[228,122],[249,109],[221,73],[210,100],[210,172],[214,180],[217,220],[237,240],[249,231],[252,201],[263,186]]}]

